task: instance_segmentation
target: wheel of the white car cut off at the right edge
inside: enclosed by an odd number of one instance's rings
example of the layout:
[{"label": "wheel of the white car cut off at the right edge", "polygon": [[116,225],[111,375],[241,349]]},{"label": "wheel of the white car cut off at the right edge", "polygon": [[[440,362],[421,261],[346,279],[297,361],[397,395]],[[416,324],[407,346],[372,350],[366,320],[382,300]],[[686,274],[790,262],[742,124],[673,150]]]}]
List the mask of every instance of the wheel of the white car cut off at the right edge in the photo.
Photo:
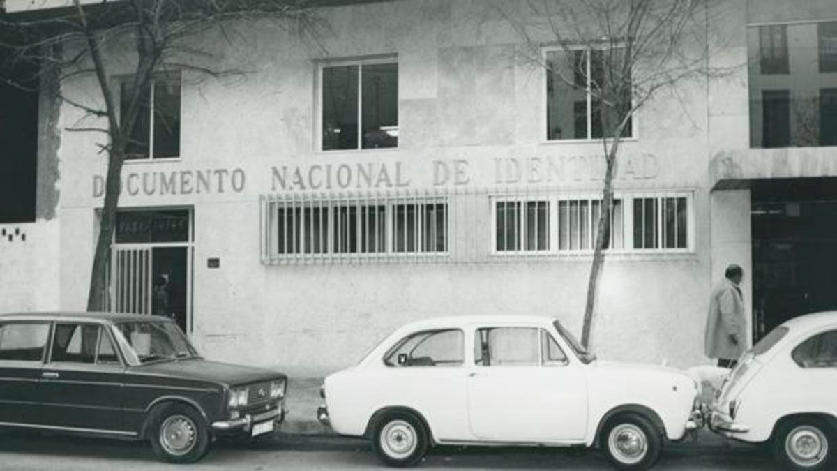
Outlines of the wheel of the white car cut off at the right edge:
[{"label": "wheel of the white car cut off at the right edge", "polygon": [[834,430],[816,418],[781,424],[773,435],[773,455],[788,469],[830,469],[834,456]]}]

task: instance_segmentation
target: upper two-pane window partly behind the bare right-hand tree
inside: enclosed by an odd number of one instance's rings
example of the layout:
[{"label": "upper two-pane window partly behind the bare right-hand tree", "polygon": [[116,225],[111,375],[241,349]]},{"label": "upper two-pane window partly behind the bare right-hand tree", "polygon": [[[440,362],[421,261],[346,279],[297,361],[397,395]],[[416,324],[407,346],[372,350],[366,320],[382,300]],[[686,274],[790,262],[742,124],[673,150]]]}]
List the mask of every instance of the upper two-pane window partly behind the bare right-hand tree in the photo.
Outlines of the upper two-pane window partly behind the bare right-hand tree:
[{"label": "upper two-pane window partly behind the bare right-hand tree", "polygon": [[[614,136],[631,106],[631,78],[621,76],[623,60],[623,48],[547,50],[548,140]],[[633,136],[630,120],[622,137]]]}]

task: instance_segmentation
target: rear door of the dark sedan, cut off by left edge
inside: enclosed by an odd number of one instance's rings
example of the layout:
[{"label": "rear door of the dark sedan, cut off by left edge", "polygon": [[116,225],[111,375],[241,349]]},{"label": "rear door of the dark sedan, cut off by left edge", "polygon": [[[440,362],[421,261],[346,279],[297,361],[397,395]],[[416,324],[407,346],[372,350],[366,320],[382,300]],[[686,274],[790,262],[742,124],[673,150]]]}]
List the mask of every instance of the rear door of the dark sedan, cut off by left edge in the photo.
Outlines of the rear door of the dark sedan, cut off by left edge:
[{"label": "rear door of the dark sedan, cut off by left edge", "polygon": [[0,424],[31,424],[39,410],[39,379],[49,322],[0,323]]}]

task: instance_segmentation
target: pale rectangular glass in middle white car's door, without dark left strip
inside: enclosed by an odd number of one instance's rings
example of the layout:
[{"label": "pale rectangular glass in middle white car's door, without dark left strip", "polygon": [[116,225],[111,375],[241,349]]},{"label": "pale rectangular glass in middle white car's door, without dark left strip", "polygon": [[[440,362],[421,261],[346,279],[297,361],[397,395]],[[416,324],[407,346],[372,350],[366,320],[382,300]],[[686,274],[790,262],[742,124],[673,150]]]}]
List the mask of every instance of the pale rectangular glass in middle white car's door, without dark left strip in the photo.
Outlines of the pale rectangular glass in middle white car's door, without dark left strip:
[{"label": "pale rectangular glass in middle white car's door, without dark left strip", "polygon": [[540,365],[538,329],[501,327],[486,330],[490,366]]}]

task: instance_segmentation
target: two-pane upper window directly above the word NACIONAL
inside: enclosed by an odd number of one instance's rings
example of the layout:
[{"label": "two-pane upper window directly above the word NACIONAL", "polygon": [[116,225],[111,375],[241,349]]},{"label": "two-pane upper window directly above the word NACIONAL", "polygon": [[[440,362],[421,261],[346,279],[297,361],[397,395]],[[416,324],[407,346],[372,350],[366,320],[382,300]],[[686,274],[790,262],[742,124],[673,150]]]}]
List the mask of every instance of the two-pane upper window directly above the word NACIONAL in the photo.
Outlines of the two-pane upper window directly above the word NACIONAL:
[{"label": "two-pane upper window directly above the word NACIONAL", "polygon": [[398,147],[398,63],[322,65],[322,150]]}]

